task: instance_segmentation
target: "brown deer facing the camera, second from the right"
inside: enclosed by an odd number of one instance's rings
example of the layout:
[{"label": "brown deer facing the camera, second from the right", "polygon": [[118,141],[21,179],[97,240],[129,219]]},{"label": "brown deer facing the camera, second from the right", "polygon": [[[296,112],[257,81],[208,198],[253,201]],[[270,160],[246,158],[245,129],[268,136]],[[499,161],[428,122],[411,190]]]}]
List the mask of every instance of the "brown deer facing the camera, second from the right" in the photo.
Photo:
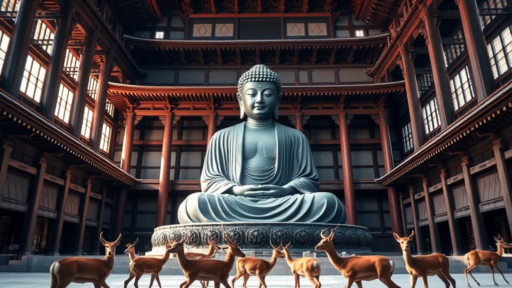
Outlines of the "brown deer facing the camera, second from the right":
[{"label": "brown deer facing the camera, second from the right", "polygon": [[406,261],[406,270],[409,272],[409,275],[411,275],[411,288],[414,288],[416,285],[418,277],[423,279],[423,286],[428,288],[429,284],[426,278],[432,275],[437,275],[437,277],[443,281],[446,288],[450,287],[450,283],[452,283],[453,288],[455,288],[455,279],[450,276],[449,272],[450,261],[448,257],[439,253],[412,256],[409,242],[414,237],[414,231],[412,231],[409,237],[400,237],[396,233],[393,233],[393,236],[396,241],[400,243],[403,259]]}]

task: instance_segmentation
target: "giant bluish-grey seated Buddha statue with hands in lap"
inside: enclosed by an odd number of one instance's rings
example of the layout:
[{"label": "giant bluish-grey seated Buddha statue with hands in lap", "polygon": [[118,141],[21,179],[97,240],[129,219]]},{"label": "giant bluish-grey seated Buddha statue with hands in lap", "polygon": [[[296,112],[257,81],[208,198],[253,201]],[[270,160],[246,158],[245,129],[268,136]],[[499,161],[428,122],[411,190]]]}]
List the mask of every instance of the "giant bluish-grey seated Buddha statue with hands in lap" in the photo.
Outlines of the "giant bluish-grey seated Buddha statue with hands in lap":
[{"label": "giant bluish-grey seated Buddha statue with hands in lap", "polygon": [[178,209],[181,224],[206,222],[346,223],[345,207],[318,192],[302,132],[273,121],[282,99],[278,74],[255,65],[238,81],[240,118],[211,138],[201,190]]}]

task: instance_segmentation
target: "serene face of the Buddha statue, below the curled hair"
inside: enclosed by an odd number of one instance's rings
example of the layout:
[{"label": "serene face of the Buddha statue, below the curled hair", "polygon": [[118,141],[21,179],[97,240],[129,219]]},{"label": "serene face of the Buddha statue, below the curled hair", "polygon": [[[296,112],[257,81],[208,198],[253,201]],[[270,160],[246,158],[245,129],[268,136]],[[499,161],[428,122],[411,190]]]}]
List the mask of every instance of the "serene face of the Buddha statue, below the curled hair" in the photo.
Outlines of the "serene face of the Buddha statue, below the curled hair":
[{"label": "serene face of the Buddha statue, below the curled hair", "polygon": [[272,82],[247,82],[242,86],[242,106],[247,118],[270,119],[279,105],[277,85]]}]

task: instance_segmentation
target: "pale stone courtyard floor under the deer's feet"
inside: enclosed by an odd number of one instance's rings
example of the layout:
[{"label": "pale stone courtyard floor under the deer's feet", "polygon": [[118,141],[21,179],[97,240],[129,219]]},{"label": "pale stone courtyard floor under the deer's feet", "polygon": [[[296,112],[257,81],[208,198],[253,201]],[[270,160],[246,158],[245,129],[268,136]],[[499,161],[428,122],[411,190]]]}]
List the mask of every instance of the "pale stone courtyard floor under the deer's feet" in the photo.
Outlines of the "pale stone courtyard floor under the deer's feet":
[{"label": "pale stone courtyard floor under the deer's feet", "polygon": [[[475,278],[480,282],[480,284],[485,286],[493,286],[493,279],[490,276],[490,273],[473,273]],[[112,274],[110,277],[106,280],[106,283],[110,285],[111,288],[114,287],[123,287],[124,280],[128,277],[128,275],[124,274]],[[457,282],[457,286],[463,287],[466,286],[465,280],[464,280],[464,274],[452,274],[452,277],[455,278],[455,281]],[[512,280],[512,274],[505,274],[505,277],[507,280]],[[231,281],[232,277],[229,278],[229,281]],[[393,281],[397,283],[400,287],[406,288],[410,286],[409,282],[409,275],[406,274],[398,274],[393,275],[392,277]],[[166,276],[162,275],[160,276],[160,280],[162,282],[162,287],[179,287],[179,284],[184,280],[183,276]],[[330,288],[330,287],[336,287],[340,288],[346,285],[345,279],[338,275],[328,275],[328,276],[321,276],[320,280],[322,282],[323,288]],[[472,279],[470,279],[472,281]],[[503,281],[503,278],[501,275],[496,275],[496,281],[500,285],[506,285],[505,281]],[[139,287],[148,287],[150,283],[150,276],[145,275],[142,276],[142,278],[139,281]],[[267,276],[266,279],[267,286],[269,288],[292,288],[293,287],[293,277],[290,276]],[[476,283],[470,282],[473,287],[477,287]],[[365,288],[373,288],[373,287],[386,287],[384,284],[382,284],[378,280],[374,281],[363,281],[362,282],[363,287]],[[93,285],[88,284],[71,284],[68,287],[92,287]],[[257,279],[254,276],[251,276],[251,278],[248,281],[248,288],[255,288],[258,287]],[[38,287],[50,287],[50,275],[49,273],[0,273],[0,287],[7,288],[7,287],[16,287],[16,288],[38,288]],[[133,280],[130,282],[128,287],[133,287]],[[156,281],[153,284],[153,287],[158,287]],[[191,286],[193,288],[200,288],[201,285],[199,282],[194,282],[194,284]],[[210,283],[210,288],[213,288],[213,284]],[[242,278],[239,279],[236,282],[236,287],[241,288],[242,287]],[[305,279],[301,278],[301,287],[309,287],[311,288],[311,283]],[[352,287],[356,287],[355,284]],[[416,287],[421,288],[423,287],[423,282],[421,279],[418,279],[418,282],[416,283]],[[429,287],[431,288],[444,288],[444,284],[437,278],[436,276],[429,277]]]}]

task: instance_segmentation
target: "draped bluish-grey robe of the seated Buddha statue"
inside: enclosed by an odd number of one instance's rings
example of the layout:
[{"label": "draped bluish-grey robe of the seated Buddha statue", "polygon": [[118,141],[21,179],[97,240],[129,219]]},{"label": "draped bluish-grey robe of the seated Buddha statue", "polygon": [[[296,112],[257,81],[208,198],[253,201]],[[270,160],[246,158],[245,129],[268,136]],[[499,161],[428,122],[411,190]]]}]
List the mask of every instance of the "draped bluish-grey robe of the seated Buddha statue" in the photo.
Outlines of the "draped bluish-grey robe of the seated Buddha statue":
[{"label": "draped bluish-grey robe of the seated Buddha statue", "polygon": [[[318,192],[307,138],[300,131],[274,123],[277,153],[266,183],[243,183],[245,122],[222,129],[211,138],[201,174],[201,190],[178,209],[181,224],[205,222],[346,223],[345,207],[328,192]],[[255,198],[227,193],[233,186],[273,184],[293,186],[298,193]]]}]

